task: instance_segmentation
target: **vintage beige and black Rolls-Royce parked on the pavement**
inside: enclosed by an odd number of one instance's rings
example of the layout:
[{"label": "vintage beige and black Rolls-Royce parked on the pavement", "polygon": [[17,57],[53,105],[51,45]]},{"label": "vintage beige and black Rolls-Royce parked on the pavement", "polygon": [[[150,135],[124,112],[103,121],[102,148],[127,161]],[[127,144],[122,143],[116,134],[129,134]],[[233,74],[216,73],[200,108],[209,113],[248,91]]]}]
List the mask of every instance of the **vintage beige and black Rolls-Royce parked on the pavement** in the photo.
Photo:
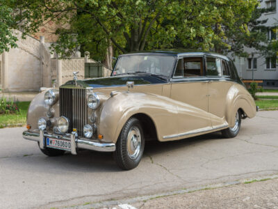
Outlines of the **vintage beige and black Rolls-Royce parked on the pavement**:
[{"label": "vintage beige and black Rolls-Royce parked on the pavement", "polygon": [[220,54],[154,51],[118,57],[111,77],[44,89],[28,109],[24,139],[42,153],[113,152],[122,169],[138,166],[145,141],[221,131],[236,137],[256,106],[234,63]]}]

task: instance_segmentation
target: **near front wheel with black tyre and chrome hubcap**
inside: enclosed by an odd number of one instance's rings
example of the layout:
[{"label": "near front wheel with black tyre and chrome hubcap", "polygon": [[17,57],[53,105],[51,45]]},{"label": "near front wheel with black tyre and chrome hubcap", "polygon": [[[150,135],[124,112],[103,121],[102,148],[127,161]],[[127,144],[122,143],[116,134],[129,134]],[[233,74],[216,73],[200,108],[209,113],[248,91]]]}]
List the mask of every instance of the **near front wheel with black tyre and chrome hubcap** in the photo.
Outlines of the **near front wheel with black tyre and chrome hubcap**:
[{"label": "near front wheel with black tyre and chrome hubcap", "polygon": [[140,121],[137,118],[130,118],[117,139],[115,162],[121,169],[134,169],[142,158],[144,147],[145,139]]}]

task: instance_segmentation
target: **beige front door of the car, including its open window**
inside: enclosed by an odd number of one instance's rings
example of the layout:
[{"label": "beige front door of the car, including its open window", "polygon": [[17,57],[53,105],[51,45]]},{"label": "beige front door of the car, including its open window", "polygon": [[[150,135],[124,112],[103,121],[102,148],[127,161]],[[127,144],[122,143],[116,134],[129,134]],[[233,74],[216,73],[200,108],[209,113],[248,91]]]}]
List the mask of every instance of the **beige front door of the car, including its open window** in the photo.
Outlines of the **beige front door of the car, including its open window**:
[{"label": "beige front door of the car, including its open window", "polygon": [[204,56],[181,57],[172,77],[170,95],[170,98],[178,101],[181,135],[211,129],[207,95],[208,83],[204,77]]}]

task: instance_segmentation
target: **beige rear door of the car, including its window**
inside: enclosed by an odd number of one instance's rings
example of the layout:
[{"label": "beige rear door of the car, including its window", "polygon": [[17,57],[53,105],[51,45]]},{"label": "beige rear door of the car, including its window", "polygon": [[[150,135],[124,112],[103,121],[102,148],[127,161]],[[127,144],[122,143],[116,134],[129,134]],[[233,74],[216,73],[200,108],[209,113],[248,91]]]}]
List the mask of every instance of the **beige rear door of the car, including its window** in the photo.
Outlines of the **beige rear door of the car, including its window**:
[{"label": "beige rear door of the car, including its window", "polygon": [[213,116],[213,128],[227,125],[227,93],[233,85],[227,61],[220,57],[206,57],[206,77],[208,78],[208,112]]}]

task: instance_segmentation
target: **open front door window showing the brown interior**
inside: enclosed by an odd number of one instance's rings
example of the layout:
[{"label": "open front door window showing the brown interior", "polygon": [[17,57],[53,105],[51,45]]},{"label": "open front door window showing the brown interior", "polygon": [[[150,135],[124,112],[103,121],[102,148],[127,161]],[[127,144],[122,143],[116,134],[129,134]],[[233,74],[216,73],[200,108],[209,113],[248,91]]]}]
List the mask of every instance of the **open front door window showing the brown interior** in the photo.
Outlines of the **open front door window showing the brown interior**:
[{"label": "open front door window showing the brown interior", "polygon": [[183,77],[198,77],[204,75],[202,57],[183,58]]}]

